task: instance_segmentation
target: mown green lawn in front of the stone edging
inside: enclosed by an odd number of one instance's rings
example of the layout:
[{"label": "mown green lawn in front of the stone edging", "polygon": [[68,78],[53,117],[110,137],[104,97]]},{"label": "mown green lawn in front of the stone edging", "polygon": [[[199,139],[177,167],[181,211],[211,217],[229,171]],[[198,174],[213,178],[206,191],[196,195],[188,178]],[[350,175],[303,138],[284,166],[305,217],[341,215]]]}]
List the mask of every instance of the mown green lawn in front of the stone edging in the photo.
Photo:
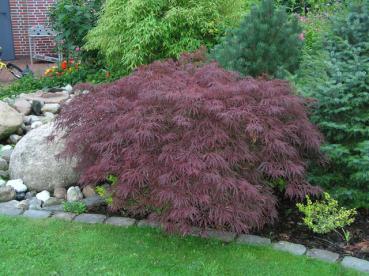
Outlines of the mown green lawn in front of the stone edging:
[{"label": "mown green lawn in front of the stone edging", "polygon": [[0,216],[0,275],[359,275],[265,247]]}]

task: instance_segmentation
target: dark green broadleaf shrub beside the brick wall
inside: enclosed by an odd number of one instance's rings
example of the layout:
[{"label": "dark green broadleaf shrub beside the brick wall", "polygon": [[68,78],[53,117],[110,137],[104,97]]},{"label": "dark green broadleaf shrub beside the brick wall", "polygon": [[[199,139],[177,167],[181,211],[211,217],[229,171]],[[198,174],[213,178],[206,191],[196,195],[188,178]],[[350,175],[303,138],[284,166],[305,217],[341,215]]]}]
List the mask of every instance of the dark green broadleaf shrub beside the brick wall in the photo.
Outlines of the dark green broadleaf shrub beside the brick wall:
[{"label": "dark green broadleaf shrub beside the brick wall", "polygon": [[84,37],[96,25],[104,2],[105,0],[58,0],[51,7],[51,25],[58,33],[56,41],[67,59],[71,51],[84,45]]}]

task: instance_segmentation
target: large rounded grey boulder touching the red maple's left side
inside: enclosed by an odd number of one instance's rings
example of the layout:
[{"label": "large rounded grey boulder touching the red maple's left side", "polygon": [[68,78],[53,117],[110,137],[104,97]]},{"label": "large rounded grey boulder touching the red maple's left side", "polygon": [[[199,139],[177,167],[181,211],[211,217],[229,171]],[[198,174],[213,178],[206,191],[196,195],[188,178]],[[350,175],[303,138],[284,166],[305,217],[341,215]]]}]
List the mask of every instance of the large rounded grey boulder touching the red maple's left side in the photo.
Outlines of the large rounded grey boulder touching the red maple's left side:
[{"label": "large rounded grey boulder touching the red maple's left side", "polygon": [[74,170],[76,160],[58,158],[64,149],[61,135],[56,135],[53,141],[48,139],[53,130],[53,124],[31,130],[14,148],[9,164],[10,178],[23,179],[29,190],[51,192],[78,181]]}]

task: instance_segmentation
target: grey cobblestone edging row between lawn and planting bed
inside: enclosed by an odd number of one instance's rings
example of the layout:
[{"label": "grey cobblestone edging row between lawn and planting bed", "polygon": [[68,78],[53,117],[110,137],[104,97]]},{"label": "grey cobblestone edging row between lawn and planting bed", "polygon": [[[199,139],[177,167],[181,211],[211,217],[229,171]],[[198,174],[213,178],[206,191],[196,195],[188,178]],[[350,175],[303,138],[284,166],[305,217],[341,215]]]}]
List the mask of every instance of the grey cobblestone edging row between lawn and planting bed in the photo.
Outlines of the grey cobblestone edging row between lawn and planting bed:
[{"label": "grey cobblestone edging row between lawn and planting bed", "polygon": [[[72,213],[60,212],[60,211],[43,211],[43,210],[28,210],[23,211],[18,208],[2,208],[0,209],[0,215],[6,216],[24,216],[32,219],[40,218],[54,218],[66,221],[76,221],[81,223],[89,224],[109,224],[117,227],[152,227],[161,228],[160,224],[155,222],[150,222],[148,220],[135,220],[126,217],[107,217],[100,214],[81,214],[75,215]],[[238,244],[248,244],[254,246],[271,246],[275,250],[288,252],[293,255],[303,256],[306,255],[309,258],[329,262],[329,263],[339,263],[345,268],[351,268],[358,270],[360,272],[369,274],[369,261],[362,260],[359,258],[351,256],[340,256],[335,252],[328,250],[322,250],[317,248],[308,249],[302,244],[290,243],[287,241],[278,241],[272,243],[272,241],[265,237],[260,237],[256,235],[237,235],[231,232],[223,232],[216,230],[201,231],[198,228],[193,228],[190,236],[202,237],[202,238],[212,238],[222,242],[236,242]]]}]

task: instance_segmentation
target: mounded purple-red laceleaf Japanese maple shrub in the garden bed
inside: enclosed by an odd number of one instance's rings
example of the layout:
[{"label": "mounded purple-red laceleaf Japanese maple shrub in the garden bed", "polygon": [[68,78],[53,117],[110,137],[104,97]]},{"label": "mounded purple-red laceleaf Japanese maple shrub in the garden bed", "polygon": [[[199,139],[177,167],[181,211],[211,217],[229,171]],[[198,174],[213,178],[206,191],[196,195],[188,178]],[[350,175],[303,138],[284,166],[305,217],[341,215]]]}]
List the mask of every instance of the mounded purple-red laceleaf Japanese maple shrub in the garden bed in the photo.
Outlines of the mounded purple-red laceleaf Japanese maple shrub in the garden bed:
[{"label": "mounded purple-red laceleaf Japanese maple shrub in the garden bed", "polygon": [[286,81],[241,78],[186,56],[142,66],[65,105],[57,127],[82,184],[117,176],[116,210],[149,210],[169,231],[248,232],[273,222],[273,187],[317,194],[304,178],[321,136]]}]

